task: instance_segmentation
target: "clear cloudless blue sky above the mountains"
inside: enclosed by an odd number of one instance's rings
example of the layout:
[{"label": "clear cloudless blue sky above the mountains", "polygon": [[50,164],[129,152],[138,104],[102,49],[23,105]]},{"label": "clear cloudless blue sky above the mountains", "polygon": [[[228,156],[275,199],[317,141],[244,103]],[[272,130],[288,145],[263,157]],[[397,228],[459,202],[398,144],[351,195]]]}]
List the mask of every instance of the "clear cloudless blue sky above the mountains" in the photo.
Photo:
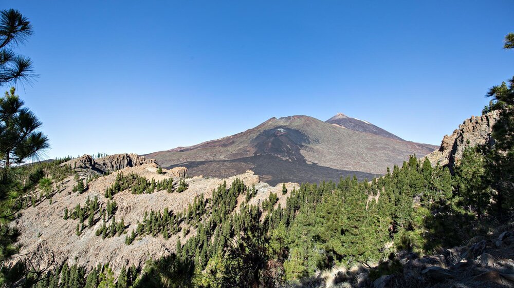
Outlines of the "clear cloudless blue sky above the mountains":
[{"label": "clear cloudless blue sky above the mountains", "polygon": [[[440,144],[514,75],[514,2],[16,1],[48,157],[139,154],[337,112]],[[4,89],[7,89],[3,87]]]}]

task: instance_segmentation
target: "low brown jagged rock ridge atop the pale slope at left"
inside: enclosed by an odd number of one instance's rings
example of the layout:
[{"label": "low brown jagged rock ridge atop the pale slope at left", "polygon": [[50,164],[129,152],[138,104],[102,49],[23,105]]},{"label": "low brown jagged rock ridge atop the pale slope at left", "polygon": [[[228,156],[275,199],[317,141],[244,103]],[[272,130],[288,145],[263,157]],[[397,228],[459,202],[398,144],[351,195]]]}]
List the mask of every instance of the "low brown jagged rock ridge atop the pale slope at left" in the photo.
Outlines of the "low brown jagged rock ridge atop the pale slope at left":
[{"label": "low brown jagged rock ridge atop the pale slope at left", "polygon": [[146,159],[137,154],[122,153],[94,159],[90,155],[71,159],[62,165],[69,165],[79,174],[91,176],[91,174],[103,175],[118,171],[127,167],[136,167],[143,164],[156,163],[155,159]]}]

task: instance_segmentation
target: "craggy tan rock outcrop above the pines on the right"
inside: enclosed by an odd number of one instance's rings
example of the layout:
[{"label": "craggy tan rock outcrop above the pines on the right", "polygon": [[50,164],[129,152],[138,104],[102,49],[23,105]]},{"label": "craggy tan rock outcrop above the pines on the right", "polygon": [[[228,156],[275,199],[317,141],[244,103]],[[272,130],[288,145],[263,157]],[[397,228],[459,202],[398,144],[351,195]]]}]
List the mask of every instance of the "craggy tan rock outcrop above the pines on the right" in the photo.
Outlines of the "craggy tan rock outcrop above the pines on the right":
[{"label": "craggy tan rock outcrop above the pines on the right", "polygon": [[498,120],[499,115],[499,111],[492,111],[466,119],[451,135],[443,138],[439,150],[426,157],[432,165],[439,163],[453,171],[455,164],[462,158],[464,149],[484,143],[492,144],[494,141],[491,138],[492,126]]}]

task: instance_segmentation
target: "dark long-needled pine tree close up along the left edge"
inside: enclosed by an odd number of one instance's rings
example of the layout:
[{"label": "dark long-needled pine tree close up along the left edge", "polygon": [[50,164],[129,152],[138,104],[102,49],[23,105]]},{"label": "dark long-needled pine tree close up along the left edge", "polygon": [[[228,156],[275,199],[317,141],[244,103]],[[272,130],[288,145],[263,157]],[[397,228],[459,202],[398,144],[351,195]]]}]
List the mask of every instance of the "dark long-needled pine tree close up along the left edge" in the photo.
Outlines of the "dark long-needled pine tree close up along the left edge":
[{"label": "dark long-needled pine tree close up along the left edge", "polygon": [[[11,74],[13,71],[6,70],[27,68],[11,67],[16,64],[17,57],[11,53],[12,51],[9,52],[8,45],[30,35],[31,26],[26,17],[13,9],[2,10],[0,21],[3,23],[0,25],[0,42],[2,42],[0,54],[4,53],[0,68],[2,74],[5,74],[0,75],[1,86],[15,79],[24,79],[24,77],[15,77],[16,75]],[[20,29],[26,29],[28,34]],[[23,64],[22,58],[19,64]],[[26,192],[19,177],[23,169],[21,164],[38,156],[49,147],[48,138],[39,131],[41,126],[41,121],[24,107],[24,101],[15,95],[14,88],[0,98],[0,127],[2,128],[0,129],[0,215],[2,215],[0,220],[3,221],[3,224],[0,224],[0,251],[2,251],[0,262],[7,262],[18,250],[18,246],[14,243],[19,233],[8,222],[17,217],[16,212],[19,211]],[[0,278],[3,278],[4,273],[8,273],[9,270],[7,268],[0,270]]]}]

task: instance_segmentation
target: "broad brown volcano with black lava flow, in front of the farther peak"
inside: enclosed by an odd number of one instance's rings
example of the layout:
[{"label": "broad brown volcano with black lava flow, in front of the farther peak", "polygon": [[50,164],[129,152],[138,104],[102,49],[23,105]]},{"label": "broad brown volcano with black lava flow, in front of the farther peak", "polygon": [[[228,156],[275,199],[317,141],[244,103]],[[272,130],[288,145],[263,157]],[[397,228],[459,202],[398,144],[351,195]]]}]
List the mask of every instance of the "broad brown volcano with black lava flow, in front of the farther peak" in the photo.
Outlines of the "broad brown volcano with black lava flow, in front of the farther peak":
[{"label": "broad brown volcano with black lava flow, in front of the farther peak", "polygon": [[388,166],[401,164],[411,154],[424,156],[435,149],[433,145],[355,131],[309,116],[290,116],[271,118],[232,136],[146,156],[163,167],[188,167],[190,175],[226,177],[251,169],[274,184],[354,174],[360,179],[372,178],[385,173]]}]

